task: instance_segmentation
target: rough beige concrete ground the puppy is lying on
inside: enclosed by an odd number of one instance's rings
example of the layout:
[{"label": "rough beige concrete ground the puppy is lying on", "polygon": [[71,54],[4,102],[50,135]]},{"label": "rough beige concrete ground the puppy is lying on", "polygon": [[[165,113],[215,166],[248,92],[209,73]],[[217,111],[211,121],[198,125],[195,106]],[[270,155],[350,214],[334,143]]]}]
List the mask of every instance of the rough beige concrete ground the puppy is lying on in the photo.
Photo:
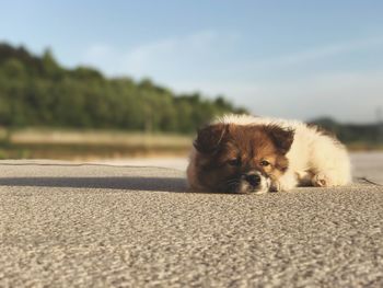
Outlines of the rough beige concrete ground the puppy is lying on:
[{"label": "rough beige concrete ground the puppy is lying on", "polygon": [[0,161],[0,287],[383,287],[383,154],[352,160],[264,195],[186,193],[183,160]]}]

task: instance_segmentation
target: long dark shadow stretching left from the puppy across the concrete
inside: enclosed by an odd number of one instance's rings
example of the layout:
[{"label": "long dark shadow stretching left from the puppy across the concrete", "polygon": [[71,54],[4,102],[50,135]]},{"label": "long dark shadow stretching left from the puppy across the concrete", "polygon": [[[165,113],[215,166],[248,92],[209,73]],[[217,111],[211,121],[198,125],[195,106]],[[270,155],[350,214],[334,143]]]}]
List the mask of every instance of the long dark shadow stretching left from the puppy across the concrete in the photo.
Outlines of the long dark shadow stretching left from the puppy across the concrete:
[{"label": "long dark shadow stretching left from the puppy across the concrete", "polygon": [[178,177],[2,177],[0,186],[187,192],[186,180]]}]

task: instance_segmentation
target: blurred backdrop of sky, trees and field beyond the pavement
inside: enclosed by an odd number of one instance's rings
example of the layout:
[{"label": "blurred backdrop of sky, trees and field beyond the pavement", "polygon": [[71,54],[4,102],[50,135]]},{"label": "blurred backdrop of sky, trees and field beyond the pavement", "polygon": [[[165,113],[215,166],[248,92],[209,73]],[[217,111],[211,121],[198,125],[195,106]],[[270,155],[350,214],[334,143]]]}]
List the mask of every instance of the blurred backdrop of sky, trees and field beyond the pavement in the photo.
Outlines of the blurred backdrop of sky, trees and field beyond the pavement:
[{"label": "blurred backdrop of sky, trees and field beyond the pavement", "polygon": [[184,158],[224,113],[383,149],[382,1],[0,5],[0,159]]}]

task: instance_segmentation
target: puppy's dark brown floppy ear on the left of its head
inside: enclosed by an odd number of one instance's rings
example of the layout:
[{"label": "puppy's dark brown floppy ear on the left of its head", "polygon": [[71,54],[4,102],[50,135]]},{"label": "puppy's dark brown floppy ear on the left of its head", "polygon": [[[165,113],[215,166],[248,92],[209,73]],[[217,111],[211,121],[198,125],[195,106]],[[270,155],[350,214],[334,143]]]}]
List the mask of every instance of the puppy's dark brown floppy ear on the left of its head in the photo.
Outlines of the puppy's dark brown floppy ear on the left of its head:
[{"label": "puppy's dark brown floppy ear on the left of its head", "polygon": [[196,140],[193,142],[194,147],[200,153],[212,153],[214,152],[224,135],[228,131],[229,126],[225,124],[212,124],[198,129]]}]

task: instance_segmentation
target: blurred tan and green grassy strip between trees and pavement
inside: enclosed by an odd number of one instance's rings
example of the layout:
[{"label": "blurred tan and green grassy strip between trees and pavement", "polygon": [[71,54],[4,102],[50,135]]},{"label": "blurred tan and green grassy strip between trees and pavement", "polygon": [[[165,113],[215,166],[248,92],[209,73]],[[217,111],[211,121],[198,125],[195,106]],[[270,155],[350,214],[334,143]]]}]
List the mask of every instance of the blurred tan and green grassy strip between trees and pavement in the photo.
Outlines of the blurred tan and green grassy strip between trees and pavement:
[{"label": "blurred tan and green grassy strip between trees and pavement", "polygon": [[185,155],[192,136],[111,130],[23,129],[0,131],[1,159],[89,160]]}]

